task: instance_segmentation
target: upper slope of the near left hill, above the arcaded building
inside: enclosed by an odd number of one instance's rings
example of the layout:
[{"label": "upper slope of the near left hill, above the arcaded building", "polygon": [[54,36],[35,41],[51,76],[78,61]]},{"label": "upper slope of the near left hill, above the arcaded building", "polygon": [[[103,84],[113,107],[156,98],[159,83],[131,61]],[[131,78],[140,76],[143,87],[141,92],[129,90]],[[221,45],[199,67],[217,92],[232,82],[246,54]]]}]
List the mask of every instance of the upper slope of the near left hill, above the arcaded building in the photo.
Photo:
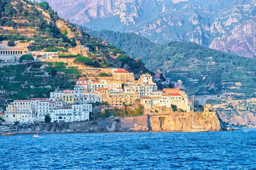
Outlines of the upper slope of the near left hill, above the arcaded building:
[{"label": "upper slope of the near left hill, above the arcaded building", "polygon": [[[58,17],[47,2],[26,0],[2,0],[0,4],[0,40],[34,41],[30,49],[67,50],[76,45],[89,47],[90,65],[95,67],[120,67],[135,73],[146,71],[141,60],[135,60],[115,46],[93,38],[81,29]],[[120,55],[119,57],[117,55]]]}]

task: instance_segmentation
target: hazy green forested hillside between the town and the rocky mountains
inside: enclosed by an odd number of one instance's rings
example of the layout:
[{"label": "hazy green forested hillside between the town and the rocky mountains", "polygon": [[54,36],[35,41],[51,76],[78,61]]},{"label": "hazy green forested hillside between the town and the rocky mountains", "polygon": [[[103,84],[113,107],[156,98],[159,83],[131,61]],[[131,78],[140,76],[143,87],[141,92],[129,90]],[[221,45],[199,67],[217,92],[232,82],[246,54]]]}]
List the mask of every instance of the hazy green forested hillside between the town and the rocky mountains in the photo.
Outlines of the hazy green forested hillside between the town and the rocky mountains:
[{"label": "hazy green forested hillside between the town and the rocky mountains", "polygon": [[[162,68],[173,81],[182,79],[191,94],[236,93],[232,96],[239,99],[256,95],[255,59],[191,42],[155,44],[135,33],[87,31],[135,58],[141,58],[152,71]],[[238,82],[241,85],[236,85]]]}]

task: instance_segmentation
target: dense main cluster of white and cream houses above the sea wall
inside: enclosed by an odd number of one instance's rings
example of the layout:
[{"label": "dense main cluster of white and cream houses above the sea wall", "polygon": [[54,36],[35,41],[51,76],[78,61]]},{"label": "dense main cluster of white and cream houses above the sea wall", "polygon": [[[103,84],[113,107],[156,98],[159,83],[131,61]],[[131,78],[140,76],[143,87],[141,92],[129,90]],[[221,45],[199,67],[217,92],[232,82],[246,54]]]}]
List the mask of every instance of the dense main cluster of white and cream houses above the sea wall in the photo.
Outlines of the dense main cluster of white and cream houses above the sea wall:
[{"label": "dense main cluster of white and cream houses above the sea wall", "polygon": [[43,122],[46,116],[51,122],[85,121],[89,120],[92,103],[104,102],[118,108],[135,101],[143,104],[145,110],[153,106],[171,108],[172,105],[186,112],[191,110],[191,101],[180,88],[159,91],[150,74],[142,74],[135,80],[133,73],[113,68],[109,79],[80,78],[73,89],[56,90],[49,98],[14,100],[7,106],[3,117],[6,124]]}]

